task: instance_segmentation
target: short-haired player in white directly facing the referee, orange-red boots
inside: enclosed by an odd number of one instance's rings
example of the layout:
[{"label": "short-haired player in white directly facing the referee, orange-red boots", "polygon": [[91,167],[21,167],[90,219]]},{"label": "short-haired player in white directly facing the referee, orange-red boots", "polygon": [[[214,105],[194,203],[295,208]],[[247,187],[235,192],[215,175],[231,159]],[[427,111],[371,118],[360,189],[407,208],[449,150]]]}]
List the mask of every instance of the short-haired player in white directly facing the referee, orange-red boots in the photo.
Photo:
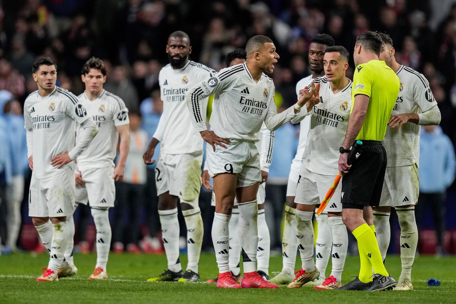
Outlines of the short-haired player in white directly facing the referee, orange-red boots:
[{"label": "short-haired player in white directly facing the referee, orange-red boots", "polygon": [[[302,268],[296,272],[288,288],[300,288],[320,276],[313,260],[312,216],[315,206],[325,199],[326,192],[338,174],[337,156],[340,152],[337,147],[342,144],[347,132],[352,98],[352,81],[345,77],[348,57],[349,53],[343,46],[328,46],[323,60],[326,75],[314,80],[321,84],[321,101],[310,114],[311,124],[295,197],[296,239]],[[342,285],[348,235],[347,227],[342,222],[340,187],[334,194],[325,209],[331,233],[332,272],[315,289],[336,289]],[[324,273],[321,275],[324,276]]]}]

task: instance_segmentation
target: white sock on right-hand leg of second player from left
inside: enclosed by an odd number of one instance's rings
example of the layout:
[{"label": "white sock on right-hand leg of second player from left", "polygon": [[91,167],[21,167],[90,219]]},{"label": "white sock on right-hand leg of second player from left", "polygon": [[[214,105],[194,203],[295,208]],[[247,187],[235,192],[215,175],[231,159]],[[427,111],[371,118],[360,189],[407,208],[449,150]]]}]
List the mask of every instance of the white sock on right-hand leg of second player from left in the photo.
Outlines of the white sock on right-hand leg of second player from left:
[{"label": "white sock on right-hand leg of second player from left", "polygon": [[109,248],[111,247],[111,225],[109,224],[109,210],[91,208],[90,212],[97,229],[96,246],[97,246],[97,264],[95,268],[100,267],[106,272],[108,263]]}]

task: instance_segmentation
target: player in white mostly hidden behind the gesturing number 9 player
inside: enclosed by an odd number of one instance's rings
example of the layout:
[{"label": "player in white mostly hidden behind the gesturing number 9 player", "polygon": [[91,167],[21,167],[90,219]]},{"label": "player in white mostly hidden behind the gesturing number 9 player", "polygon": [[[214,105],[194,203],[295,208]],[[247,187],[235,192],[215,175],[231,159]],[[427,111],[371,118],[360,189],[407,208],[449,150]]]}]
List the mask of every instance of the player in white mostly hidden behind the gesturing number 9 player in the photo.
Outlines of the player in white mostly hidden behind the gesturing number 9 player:
[{"label": "player in white mostly hidden behind the gesturing number 9 player", "polygon": [[[233,52],[229,52],[225,58],[227,67],[244,63],[247,54],[244,49],[236,49]],[[247,92],[247,90],[245,91]],[[264,278],[269,280],[269,256],[270,256],[270,243],[271,238],[269,235],[269,227],[266,223],[264,215],[264,201],[266,199],[266,180],[268,179],[269,167],[272,162],[273,148],[274,148],[274,131],[270,131],[266,128],[265,124],[261,125],[261,129],[258,134],[259,141],[256,143],[256,147],[259,151],[259,160],[261,167],[261,183],[258,188],[257,199],[258,199],[258,249],[257,249],[257,273]],[[202,184],[207,190],[212,190],[209,185],[210,176],[207,168],[207,158],[204,163],[204,171],[202,175]],[[215,206],[215,194],[212,191],[211,206]],[[230,239],[230,253],[229,253],[229,268],[234,278],[238,283],[241,283],[241,269],[239,260],[241,256],[241,247],[238,236],[238,222],[239,222],[239,210],[238,203],[235,199],[233,211],[231,213],[231,219],[229,221],[229,239]],[[206,283],[217,283],[218,277],[206,281]]]}]

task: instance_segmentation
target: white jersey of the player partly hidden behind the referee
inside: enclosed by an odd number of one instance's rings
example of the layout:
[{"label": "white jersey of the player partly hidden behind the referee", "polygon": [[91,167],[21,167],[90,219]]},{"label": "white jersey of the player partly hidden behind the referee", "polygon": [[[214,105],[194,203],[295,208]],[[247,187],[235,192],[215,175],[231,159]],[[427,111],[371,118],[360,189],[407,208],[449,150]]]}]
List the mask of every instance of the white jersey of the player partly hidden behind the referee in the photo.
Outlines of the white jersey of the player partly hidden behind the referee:
[{"label": "white jersey of the player partly hidden behind the referee", "polygon": [[[401,66],[396,72],[400,80],[399,95],[391,116],[404,113],[424,113],[437,102],[429,88],[429,82],[419,72]],[[386,128],[383,146],[388,155],[388,167],[401,167],[417,164],[420,159],[421,126],[405,123],[399,130]]]}]

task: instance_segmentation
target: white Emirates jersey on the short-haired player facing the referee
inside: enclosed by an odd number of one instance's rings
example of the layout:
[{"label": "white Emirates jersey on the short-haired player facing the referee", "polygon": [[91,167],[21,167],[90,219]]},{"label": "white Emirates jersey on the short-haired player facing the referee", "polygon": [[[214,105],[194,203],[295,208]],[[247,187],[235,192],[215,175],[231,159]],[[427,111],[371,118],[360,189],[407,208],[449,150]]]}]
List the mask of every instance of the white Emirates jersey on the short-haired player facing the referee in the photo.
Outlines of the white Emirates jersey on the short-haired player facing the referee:
[{"label": "white Emirates jersey on the short-haired player facing the referee", "polygon": [[[348,78],[347,78],[348,79]],[[339,93],[334,94],[326,76],[318,77],[321,102],[313,107],[306,148],[302,164],[306,169],[321,175],[337,175],[339,147],[347,133],[348,118],[352,106],[352,81]]]}]

